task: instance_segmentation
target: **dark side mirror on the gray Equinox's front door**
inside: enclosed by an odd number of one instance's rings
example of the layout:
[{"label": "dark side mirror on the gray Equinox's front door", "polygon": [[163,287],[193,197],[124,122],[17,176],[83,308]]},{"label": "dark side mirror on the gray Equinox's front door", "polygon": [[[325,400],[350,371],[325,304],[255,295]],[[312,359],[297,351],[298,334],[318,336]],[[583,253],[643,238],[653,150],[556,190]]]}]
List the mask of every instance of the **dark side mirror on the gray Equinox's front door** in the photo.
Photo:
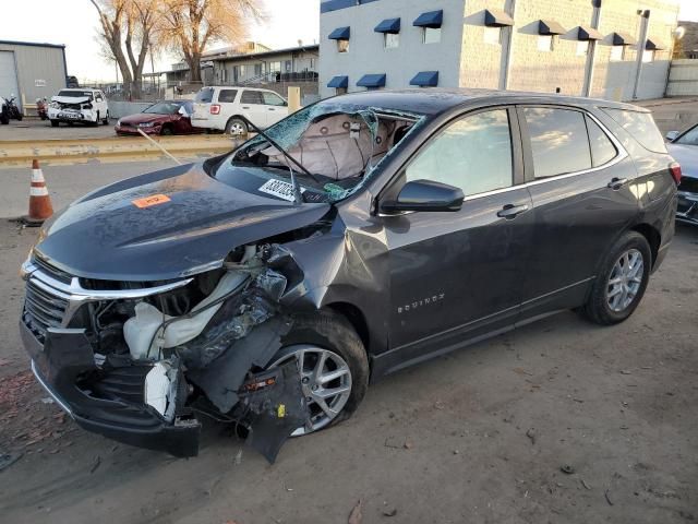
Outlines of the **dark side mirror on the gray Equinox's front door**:
[{"label": "dark side mirror on the gray Equinox's front door", "polygon": [[460,211],[465,198],[462,190],[454,186],[432,180],[412,180],[402,187],[397,200],[382,202],[381,212],[392,214],[406,211]]}]

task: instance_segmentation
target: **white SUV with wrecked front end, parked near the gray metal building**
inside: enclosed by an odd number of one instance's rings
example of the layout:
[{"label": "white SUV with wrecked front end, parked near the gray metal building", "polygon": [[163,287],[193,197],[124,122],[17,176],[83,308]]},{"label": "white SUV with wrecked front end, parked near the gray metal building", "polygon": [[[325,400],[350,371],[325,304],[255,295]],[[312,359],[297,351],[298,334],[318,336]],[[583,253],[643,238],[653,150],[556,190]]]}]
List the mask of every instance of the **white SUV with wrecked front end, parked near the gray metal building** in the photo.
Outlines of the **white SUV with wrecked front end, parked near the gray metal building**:
[{"label": "white SUV with wrecked front end, parked near the gray metal building", "polygon": [[99,90],[88,87],[61,90],[51,97],[48,105],[48,118],[57,128],[60,122],[71,126],[74,122],[99,126],[109,123],[107,97]]}]

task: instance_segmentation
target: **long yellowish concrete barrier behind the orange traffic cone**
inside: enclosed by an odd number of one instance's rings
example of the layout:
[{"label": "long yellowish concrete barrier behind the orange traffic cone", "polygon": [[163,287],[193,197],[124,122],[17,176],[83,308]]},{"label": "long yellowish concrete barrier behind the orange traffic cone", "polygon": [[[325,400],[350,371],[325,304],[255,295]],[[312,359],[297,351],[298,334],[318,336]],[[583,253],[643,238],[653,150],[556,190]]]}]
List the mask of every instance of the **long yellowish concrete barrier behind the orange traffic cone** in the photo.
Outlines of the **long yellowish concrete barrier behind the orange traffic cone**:
[{"label": "long yellowish concrete barrier behind the orange traffic cone", "polygon": [[[153,136],[176,157],[195,158],[231,151],[239,142],[225,134],[189,136]],[[83,164],[88,162],[128,162],[164,158],[163,152],[142,136],[109,139],[2,141],[0,166],[17,167],[37,158],[45,165]]]}]

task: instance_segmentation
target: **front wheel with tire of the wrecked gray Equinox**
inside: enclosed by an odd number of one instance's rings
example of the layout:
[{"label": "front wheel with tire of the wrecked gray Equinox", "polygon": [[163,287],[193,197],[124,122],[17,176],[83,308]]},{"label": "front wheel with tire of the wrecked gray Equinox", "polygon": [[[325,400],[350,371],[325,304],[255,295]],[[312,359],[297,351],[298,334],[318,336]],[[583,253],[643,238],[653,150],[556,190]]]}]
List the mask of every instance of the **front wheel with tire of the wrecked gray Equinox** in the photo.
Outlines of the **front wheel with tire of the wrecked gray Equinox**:
[{"label": "front wheel with tire of the wrecked gray Equinox", "polygon": [[[311,430],[304,427],[298,428],[293,436],[315,432],[349,418],[359,407],[369,386],[366,352],[351,324],[340,314],[328,311],[299,313],[293,315],[291,330],[281,340],[281,346],[268,368],[274,368],[290,359],[296,359],[298,362],[300,361],[299,354],[302,352],[304,369],[310,370],[313,368],[313,364],[318,360],[317,352],[324,352],[327,357],[323,370],[327,369],[328,373],[341,372],[345,369],[344,366],[336,365],[342,361],[349,371],[348,376],[344,373],[340,378],[322,382],[324,388],[316,386],[316,382],[312,378],[303,378],[305,394],[312,395],[309,396],[309,407],[311,407],[311,416],[313,417],[313,428]],[[320,374],[323,374],[322,370]],[[321,398],[321,395],[327,391],[340,391],[347,382],[350,388],[348,395],[341,397],[341,394],[338,394],[336,397],[327,398],[325,403],[325,406],[340,406],[338,407],[339,413],[330,418],[322,412],[321,405],[314,398]],[[321,400],[321,402],[323,401]],[[322,417],[315,419],[315,414],[318,413]]]}]

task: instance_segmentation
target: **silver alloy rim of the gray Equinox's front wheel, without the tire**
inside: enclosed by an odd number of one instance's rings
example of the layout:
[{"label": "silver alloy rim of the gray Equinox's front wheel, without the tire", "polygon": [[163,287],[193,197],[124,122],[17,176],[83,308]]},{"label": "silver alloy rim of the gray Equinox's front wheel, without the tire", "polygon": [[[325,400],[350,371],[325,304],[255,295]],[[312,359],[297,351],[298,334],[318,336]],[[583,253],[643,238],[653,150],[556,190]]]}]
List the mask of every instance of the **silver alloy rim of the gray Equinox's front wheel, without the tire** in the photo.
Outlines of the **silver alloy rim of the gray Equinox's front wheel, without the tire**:
[{"label": "silver alloy rim of the gray Equinox's front wheel, without the tire", "polygon": [[334,352],[312,345],[289,346],[285,355],[269,368],[296,359],[301,376],[301,389],[310,409],[310,428],[300,427],[293,437],[311,433],[328,426],[341,413],[351,395],[351,370]]}]

